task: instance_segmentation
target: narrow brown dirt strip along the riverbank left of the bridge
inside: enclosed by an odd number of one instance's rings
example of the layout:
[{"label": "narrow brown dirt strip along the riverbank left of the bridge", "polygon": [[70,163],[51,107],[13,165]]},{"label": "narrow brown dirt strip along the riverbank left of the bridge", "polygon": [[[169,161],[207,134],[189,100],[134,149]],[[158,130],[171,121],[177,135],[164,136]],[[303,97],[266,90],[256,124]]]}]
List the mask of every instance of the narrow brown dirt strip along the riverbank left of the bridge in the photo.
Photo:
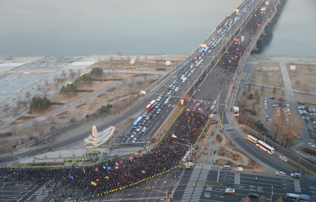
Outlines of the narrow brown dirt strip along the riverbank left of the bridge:
[{"label": "narrow brown dirt strip along the riverbank left of the bridge", "polygon": [[[158,58],[160,59],[160,58]],[[135,64],[131,65],[129,64],[129,60],[124,60],[123,65],[121,64],[121,61],[115,60],[115,61],[101,61],[101,62],[96,62],[93,65],[90,65],[86,69],[92,69],[93,67],[101,67],[103,69],[112,69],[115,71],[116,69],[127,69],[130,70],[131,72],[133,71],[138,71],[138,70],[157,70],[157,71],[170,71],[172,68],[174,68],[175,64],[179,64],[184,58],[184,56],[179,55],[178,61],[174,63],[174,61],[171,61],[171,64],[167,67],[164,65],[165,60],[163,62],[159,62],[158,65],[154,61],[135,61]]]}]

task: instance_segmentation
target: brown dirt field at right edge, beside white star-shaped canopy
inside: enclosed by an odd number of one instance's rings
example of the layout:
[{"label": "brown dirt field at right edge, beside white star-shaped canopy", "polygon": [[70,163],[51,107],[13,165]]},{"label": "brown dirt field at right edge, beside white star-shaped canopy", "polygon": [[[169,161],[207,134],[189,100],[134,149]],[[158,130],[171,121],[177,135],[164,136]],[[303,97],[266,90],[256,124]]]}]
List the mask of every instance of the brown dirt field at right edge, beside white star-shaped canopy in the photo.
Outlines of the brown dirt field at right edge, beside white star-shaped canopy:
[{"label": "brown dirt field at right edge, beside white star-shaped canopy", "polygon": [[[286,64],[288,65],[288,64]],[[297,65],[298,66],[298,65]],[[311,72],[307,68],[299,68],[296,66],[296,71],[290,71],[290,68],[287,68],[288,74],[293,88],[298,88],[302,90],[311,90],[316,91],[316,69],[315,67],[310,67]],[[311,66],[311,65],[310,65]],[[300,84],[295,84],[295,81],[300,81]],[[305,87],[308,86],[308,88]]]}]

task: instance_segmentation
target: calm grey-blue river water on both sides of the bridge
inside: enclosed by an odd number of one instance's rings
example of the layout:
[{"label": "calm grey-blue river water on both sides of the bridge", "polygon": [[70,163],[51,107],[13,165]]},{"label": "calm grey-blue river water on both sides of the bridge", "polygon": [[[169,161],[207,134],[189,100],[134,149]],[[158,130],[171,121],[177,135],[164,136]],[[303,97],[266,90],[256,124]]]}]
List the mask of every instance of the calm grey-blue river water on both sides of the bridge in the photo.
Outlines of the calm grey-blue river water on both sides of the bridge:
[{"label": "calm grey-blue river water on both sides of the bridge", "polygon": [[[286,1],[259,53],[312,56],[315,1]],[[190,54],[240,2],[1,0],[0,55]]]}]

